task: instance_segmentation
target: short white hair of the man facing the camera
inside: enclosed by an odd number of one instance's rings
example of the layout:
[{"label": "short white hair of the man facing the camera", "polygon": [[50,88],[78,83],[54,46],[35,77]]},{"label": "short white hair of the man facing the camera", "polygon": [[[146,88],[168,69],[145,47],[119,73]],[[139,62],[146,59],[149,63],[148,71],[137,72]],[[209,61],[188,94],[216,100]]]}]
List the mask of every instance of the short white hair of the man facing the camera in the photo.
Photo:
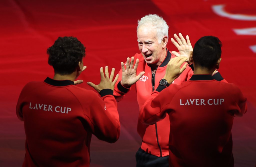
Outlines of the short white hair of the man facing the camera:
[{"label": "short white hair of the man facing the camera", "polygon": [[141,20],[138,20],[137,32],[140,26],[149,26],[152,28],[156,28],[156,36],[159,44],[161,43],[165,35],[167,36],[168,41],[169,26],[166,24],[166,21],[163,19],[163,17],[160,17],[156,14],[146,15],[142,17]]}]

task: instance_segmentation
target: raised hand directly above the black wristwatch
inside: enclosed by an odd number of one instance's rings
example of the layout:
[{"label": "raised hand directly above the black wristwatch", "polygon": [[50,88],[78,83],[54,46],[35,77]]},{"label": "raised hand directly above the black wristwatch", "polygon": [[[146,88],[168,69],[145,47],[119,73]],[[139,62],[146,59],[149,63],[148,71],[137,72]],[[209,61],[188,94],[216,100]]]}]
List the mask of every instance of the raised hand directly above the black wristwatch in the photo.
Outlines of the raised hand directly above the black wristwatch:
[{"label": "raised hand directly above the black wristwatch", "polygon": [[169,84],[171,84],[174,79],[178,78],[179,75],[186,69],[187,63],[185,63],[182,68],[180,66],[186,61],[187,57],[180,56],[170,59],[167,64],[166,72],[164,79],[167,80]]}]

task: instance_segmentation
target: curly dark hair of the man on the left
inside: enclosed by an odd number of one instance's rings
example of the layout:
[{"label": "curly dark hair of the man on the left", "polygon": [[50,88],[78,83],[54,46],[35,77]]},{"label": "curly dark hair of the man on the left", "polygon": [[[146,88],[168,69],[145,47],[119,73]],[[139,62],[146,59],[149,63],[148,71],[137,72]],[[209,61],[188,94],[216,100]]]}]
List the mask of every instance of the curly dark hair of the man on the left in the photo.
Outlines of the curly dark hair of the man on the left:
[{"label": "curly dark hair of the man on the left", "polygon": [[72,74],[85,56],[85,47],[76,37],[59,37],[47,49],[48,64],[60,75]]}]

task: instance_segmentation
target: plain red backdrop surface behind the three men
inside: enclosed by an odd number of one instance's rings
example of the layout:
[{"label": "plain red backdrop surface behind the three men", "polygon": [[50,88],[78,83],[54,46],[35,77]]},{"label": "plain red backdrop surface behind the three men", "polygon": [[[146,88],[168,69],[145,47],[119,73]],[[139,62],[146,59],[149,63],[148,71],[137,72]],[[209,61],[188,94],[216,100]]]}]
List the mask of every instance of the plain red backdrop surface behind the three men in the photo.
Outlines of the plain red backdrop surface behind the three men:
[{"label": "plain red backdrop surface behind the three men", "polygon": [[[235,166],[254,166],[256,161],[256,88],[254,62],[256,32],[237,35],[233,29],[256,28],[251,21],[221,17],[212,10],[223,4],[229,14],[256,17],[253,0],[167,1],[29,1],[0,2],[0,166],[21,166],[25,155],[23,122],[16,117],[19,93],[29,81],[53,77],[47,64],[46,49],[59,36],[77,37],[86,46],[84,65],[79,79],[99,83],[99,69],[108,65],[120,69],[120,62],[139,53],[137,20],[146,14],[158,14],[174,33],[189,35],[191,43],[202,36],[219,37],[223,43],[222,76],[238,85],[248,99],[248,111],[234,118],[232,129]],[[170,42],[170,50],[177,49]],[[80,87],[91,89],[86,83]],[[217,91],[217,90],[216,90]],[[135,166],[135,152],[141,139],[136,132],[138,105],[134,89],[118,103],[121,122],[120,139],[109,144],[93,137],[91,166]]]}]

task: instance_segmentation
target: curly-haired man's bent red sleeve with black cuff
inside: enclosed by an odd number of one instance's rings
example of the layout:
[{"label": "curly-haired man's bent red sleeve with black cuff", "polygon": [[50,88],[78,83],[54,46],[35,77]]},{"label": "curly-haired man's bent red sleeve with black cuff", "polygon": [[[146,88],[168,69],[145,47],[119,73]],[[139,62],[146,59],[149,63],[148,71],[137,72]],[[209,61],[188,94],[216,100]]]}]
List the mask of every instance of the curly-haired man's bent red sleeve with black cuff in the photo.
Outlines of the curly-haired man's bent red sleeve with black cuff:
[{"label": "curly-haired man's bent red sleeve with black cuff", "polygon": [[113,90],[103,89],[99,96],[93,96],[90,114],[85,115],[89,119],[92,133],[100,140],[113,143],[120,136],[120,122],[117,111],[117,103],[113,96]]}]

